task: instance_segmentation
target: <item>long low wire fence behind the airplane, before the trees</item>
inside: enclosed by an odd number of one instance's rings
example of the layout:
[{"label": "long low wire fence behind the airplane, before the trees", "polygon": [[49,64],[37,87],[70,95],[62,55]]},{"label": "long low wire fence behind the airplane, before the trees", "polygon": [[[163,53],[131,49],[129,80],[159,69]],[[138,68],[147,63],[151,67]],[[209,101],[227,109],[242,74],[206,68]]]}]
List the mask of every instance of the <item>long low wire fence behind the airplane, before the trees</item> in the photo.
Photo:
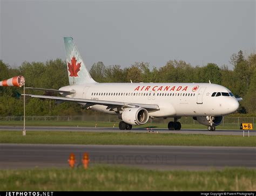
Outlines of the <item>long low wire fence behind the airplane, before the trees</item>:
[{"label": "long low wire fence behind the airplane, before the trees", "polygon": [[[80,116],[26,116],[26,121],[94,121],[94,122],[119,122],[114,115],[80,115]],[[256,117],[223,117],[221,125],[240,126],[240,123],[253,123]],[[0,116],[0,121],[23,121],[23,116]],[[153,118],[150,123],[168,123],[172,118]],[[181,117],[182,124],[198,124],[192,117]]]}]

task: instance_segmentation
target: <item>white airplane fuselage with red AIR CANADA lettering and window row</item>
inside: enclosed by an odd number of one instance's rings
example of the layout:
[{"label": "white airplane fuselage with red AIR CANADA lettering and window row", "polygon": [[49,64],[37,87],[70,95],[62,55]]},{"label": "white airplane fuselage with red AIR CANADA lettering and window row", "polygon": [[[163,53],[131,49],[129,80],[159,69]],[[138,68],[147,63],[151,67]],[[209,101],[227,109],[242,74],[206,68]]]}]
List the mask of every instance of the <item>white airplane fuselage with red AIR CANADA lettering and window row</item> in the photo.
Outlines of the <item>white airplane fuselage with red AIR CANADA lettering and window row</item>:
[{"label": "white airplane fuselage with red AIR CANADA lettering and window row", "polygon": [[[93,83],[65,86],[60,90],[75,90],[76,93],[66,97],[156,104],[159,110],[150,112],[151,117],[223,116],[239,107],[234,96],[212,96],[214,92],[231,92],[211,83]],[[94,105],[91,109],[109,114],[122,113],[122,110],[110,111],[102,105]]]}]

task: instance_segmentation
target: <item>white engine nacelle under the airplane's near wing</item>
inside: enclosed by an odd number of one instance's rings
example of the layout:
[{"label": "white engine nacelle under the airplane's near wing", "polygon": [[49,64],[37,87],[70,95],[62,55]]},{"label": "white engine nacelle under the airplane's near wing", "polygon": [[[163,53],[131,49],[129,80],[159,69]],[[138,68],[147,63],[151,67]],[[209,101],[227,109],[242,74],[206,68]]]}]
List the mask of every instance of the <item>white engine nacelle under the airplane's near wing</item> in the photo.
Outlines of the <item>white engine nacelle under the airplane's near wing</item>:
[{"label": "white engine nacelle under the airplane's near wing", "polygon": [[122,120],[132,125],[145,124],[149,120],[149,112],[144,108],[127,108],[122,113]]}]

